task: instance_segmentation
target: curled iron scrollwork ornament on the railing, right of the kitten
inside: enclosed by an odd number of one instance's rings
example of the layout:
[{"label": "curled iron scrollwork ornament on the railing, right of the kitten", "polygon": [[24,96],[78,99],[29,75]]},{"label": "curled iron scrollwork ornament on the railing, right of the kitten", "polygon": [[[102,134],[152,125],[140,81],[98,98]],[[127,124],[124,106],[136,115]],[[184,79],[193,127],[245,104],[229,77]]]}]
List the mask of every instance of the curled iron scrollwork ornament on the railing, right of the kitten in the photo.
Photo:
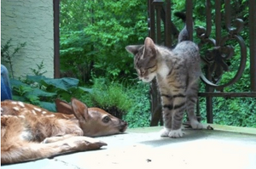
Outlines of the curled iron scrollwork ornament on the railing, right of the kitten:
[{"label": "curled iron scrollwork ornament on the railing, right of the kitten", "polygon": [[[215,1],[216,11],[216,23],[221,23],[221,13],[220,13],[220,1]],[[202,26],[196,29],[196,35],[200,38],[199,48],[204,45],[212,46],[208,48],[205,54],[201,56],[203,62],[207,65],[206,76],[202,75],[201,80],[205,82],[208,86],[216,88],[218,91],[223,91],[224,87],[230,86],[237,82],[242,75],[243,70],[246,66],[247,59],[247,48],[244,40],[240,36],[243,29],[243,20],[234,20],[233,27],[230,26],[230,1],[225,1],[225,28],[227,30],[227,35],[221,37],[222,26],[216,24],[216,37],[215,39],[210,37],[212,31],[212,15],[211,15],[211,1],[207,0],[207,28]],[[218,8],[219,7],[219,8]],[[230,59],[234,56],[235,50],[231,45],[226,45],[228,41],[236,41],[240,47],[241,59],[236,75],[230,79],[230,82],[225,84],[219,84],[224,71],[229,70]]]}]

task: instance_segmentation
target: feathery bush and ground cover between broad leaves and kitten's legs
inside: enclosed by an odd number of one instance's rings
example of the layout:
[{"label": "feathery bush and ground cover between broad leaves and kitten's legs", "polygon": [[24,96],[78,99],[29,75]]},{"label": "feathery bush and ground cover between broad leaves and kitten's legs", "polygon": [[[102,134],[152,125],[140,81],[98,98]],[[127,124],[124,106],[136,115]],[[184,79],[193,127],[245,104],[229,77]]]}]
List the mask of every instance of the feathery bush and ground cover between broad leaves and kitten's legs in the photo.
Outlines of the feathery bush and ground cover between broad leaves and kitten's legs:
[{"label": "feathery bush and ground cover between broad leaves and kitten's legs", "polygon": [[106,78],[94,79],[92,92],[81,99],[89,106],[100,107],[128,122],[129,127],[149,127],[148,84],[135,82],[125,87]]}]

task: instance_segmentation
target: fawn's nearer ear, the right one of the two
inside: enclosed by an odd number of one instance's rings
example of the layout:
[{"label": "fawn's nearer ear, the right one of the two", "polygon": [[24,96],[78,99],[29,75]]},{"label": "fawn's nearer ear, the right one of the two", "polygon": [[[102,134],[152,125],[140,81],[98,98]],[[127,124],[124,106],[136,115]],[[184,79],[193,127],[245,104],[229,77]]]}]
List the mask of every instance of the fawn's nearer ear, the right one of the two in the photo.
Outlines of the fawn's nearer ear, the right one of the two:
[{"label": "fawn's nearer ear, the right one of the two", "polygon": [[90,115],[88,114],[87,106],[78,99],[71,99],[71,106],[73,109],[73,115],[77,117],[79,122],[89,121]]}]

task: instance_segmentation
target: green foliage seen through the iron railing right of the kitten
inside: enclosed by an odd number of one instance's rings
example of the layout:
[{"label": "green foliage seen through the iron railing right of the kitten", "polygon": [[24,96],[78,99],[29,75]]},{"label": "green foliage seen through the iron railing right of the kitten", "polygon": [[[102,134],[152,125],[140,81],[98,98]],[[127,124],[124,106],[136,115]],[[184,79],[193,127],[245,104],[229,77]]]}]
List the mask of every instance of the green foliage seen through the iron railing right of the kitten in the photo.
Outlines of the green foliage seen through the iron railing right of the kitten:
[{"label": "green foliage seen through the iron railing right of the kitten", "polygon": [[[194,19],[195,19],[195,27],[197,26],[206,26],[206,19],[205,19],[205,8],[204,3],[198,3],[201,2],[201,0],[196,0],[195,8],[193,10]],[[232,1],[231,2],[231,25],[233,24],[234,20],[236,18],[242,19],[244,21],[244,25],[248,25],[248,1]],[[214,3],[212,3],[214,4]],[[212,34],[211,37],[215,38],[215,14],[214,10],[212,10]],[[222,6],[222,12],[224,14],[224,5]],[[223,23],[224,24],[224,23]],[[232,25],[233,26],[233,25]],[[224,26],[223,26],[224,28]],[[227,35],[227,30],[222,29],[222,36]],[[248,46],[248,27],[244,26],[243,31],[241,31],[241,37],[244,39],[246,45],[247,45],[247,56],[249,56],[249,46]],[[198,42],[197,37],[195,37],[195,41]],[[224,75],[221,78],[221,81],[219,84],[225,84],[227,82],[230,82],[231,79],[236,76],[236,72],[239,69],[240,65],[240,59],[241,59],[241,52],[240,52],[240,46],[238,42],[233,39],[229,42],[226,42],[225,45],[232,46],[234,51],[234,56],[227,60],[227,62],[230,62],[230,70],[227,72],[224,72]],[[212,48],[212,47],[206,47],[201,49],[201,54],[204,54],[204,51]],[[247,63],[245,70],[240,78],[239,81],[234,83],[233,85],[229,87],[224,87],[224,92],[249,92],[250,91],[250,64],[249,64],[249,57],[247,57]],[[201,84],[201,92],[204,92],[205,88],[204,85]],[[255,102],[256,99],[254,98],[213,98],[213,122],[217,124],[222,125],[231,125],[231,126],[238,126],[238,127],[256,127],[255,121],[256,121],[256,115],[255,115]],[[200,108],[201,108],[201,116],[203,118],[203,121],[206,122],[206,99],[200,98]]]}]

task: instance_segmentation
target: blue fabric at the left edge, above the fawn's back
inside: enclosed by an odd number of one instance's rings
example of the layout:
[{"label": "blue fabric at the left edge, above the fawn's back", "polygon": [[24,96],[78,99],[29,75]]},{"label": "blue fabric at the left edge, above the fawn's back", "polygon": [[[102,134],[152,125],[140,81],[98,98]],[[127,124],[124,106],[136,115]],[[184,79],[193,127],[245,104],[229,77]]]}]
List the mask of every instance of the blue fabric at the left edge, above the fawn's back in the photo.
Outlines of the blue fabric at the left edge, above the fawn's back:
[{"label": "blue fabric at the left edge, above the fawn's back", "polygon": [[1,65],[1,101],[12,99],[12,92],[9,83],[9,72],[4,65]]}]

